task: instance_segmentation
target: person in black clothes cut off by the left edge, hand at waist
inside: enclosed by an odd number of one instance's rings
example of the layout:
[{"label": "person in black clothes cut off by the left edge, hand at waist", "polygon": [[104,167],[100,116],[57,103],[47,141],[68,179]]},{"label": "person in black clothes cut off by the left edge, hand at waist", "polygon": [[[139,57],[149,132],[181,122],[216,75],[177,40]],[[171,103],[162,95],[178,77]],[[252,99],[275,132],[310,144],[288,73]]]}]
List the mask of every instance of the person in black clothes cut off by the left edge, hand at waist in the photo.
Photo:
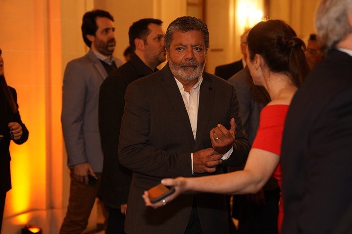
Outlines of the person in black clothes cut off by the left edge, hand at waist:
[{"label": "person in black clothes cut off by the left edge, hand at waist", "polygon": [[0,233],[6,193],[11,189],[10,142],[18,145],[28,139],[28,130],[22,123],[16,90],[7,86],[0,48]]}]

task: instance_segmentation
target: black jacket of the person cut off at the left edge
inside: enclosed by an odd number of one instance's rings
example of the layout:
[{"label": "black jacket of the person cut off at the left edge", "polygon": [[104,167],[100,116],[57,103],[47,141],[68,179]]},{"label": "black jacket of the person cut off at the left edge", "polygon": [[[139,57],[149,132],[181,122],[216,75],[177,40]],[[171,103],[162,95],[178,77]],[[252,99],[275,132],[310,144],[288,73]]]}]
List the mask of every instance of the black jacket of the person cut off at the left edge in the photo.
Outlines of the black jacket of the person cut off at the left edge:
[{"label": "black jacket of the person cut off at the left edge", "polygon": [[[14,98],[14,101],[17,106],[17,93],[16,90],[12,87],[9,87],[11,94]],[[4,138],[0,142],[0,192],[6,192],[11,189],[11,173],[10,173],[10,129],[7,127],[9,122],[17,122],[22,127],[22,136],[19,140],[13,140],[16,144],[21,145],[28,139],[28,130],[25,125],[22,123],[20,112],[17,111],[15,114],[11,113],[9,107],[5,107],[5,100],[2,90],[0,90],[0,108],[1,108],[1,123],[0,123],[0,135],[4,135]],[[1,221],[1,220],[0,220]]]}]

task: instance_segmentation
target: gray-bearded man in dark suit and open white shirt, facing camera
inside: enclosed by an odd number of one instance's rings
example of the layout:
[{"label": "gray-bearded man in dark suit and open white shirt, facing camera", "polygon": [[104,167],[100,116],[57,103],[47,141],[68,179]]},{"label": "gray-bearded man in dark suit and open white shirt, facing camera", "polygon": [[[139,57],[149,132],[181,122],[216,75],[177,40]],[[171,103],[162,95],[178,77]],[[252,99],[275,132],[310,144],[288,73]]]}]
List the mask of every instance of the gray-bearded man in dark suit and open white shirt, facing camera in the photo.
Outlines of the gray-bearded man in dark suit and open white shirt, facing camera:
[{"label": "gray-bearded man in dark suit and open white shirt, facing camera", "polygon": [[[226,234],[224,195],[183,194],[157,210],[141,197],[164,177],[219,174],[223,166],[242,165],[249,150],[234,86],[202,73],[209,47],[206,24],[177,18],[168,27],[165,47],[169,63],[126,91],[119,160],[133,176],[125,231]],[[234,135],[227,130],[232,118]]]}]

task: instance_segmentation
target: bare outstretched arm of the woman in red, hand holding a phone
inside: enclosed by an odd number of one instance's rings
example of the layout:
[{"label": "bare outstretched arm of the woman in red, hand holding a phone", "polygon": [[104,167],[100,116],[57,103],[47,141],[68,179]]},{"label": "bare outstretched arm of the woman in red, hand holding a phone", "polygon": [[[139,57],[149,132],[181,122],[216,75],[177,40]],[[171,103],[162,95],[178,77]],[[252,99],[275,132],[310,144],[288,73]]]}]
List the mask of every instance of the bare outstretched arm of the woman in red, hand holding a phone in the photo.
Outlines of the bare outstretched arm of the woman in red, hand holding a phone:
[{"label": "bare outstretched arm of the woman in red, hand holding a phone", "polygon": [[[164,201],[168,203],[184,191],[224,194],[255,193],[264,186],[279,164],[279,160],[280,156],[275,153],[263,149],[251,149],[244,170],[197,178],[163,179],[162,184],[175,188],[175,192],[166,197]],[[164,205],[162,201],[151,203],[147,191],[143,198],[147,206],[158,208]]]}]

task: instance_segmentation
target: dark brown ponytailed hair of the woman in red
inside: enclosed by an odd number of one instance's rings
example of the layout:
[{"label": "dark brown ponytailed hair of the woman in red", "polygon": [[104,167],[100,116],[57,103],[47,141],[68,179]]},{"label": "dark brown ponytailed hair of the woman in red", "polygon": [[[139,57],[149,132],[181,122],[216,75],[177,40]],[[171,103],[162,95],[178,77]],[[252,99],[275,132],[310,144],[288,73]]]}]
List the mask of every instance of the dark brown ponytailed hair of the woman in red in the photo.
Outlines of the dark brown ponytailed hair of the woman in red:
[{"label": "dark brown ponytailed hair of the woman in red", "polygon": [[272,72],[287,72],[295,86],[300,86],[309,72],[304,51],[306,44],[284,21],[268,20],[255,25],[248,34],[250,60],[256,54],[264,58]]}]

